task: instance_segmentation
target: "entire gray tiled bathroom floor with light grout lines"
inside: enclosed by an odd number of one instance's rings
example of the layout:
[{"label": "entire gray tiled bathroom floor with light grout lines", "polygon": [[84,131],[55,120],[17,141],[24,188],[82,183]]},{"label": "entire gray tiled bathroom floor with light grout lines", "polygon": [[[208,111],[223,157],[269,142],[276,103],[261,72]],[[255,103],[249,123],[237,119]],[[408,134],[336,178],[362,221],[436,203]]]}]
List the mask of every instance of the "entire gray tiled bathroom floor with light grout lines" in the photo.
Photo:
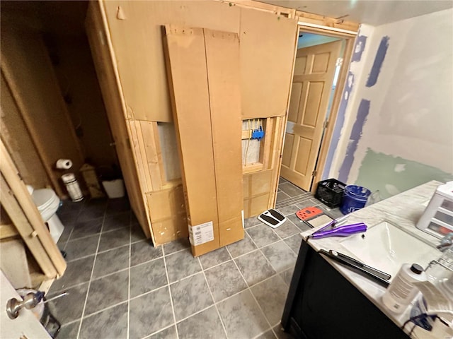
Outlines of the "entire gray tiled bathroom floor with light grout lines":
[{"label": "entire gray tiled bathroom floor with light grout lines", "polygon": [[69,292],[50,302],[58,338],[289,338],[279,323],[306,206],[338,214],[280,179],[284,225],[249,218],[241,242],[193,258],[187,239],[153,247],[126,199],[65,203],[68,267],[47,295]]}]

